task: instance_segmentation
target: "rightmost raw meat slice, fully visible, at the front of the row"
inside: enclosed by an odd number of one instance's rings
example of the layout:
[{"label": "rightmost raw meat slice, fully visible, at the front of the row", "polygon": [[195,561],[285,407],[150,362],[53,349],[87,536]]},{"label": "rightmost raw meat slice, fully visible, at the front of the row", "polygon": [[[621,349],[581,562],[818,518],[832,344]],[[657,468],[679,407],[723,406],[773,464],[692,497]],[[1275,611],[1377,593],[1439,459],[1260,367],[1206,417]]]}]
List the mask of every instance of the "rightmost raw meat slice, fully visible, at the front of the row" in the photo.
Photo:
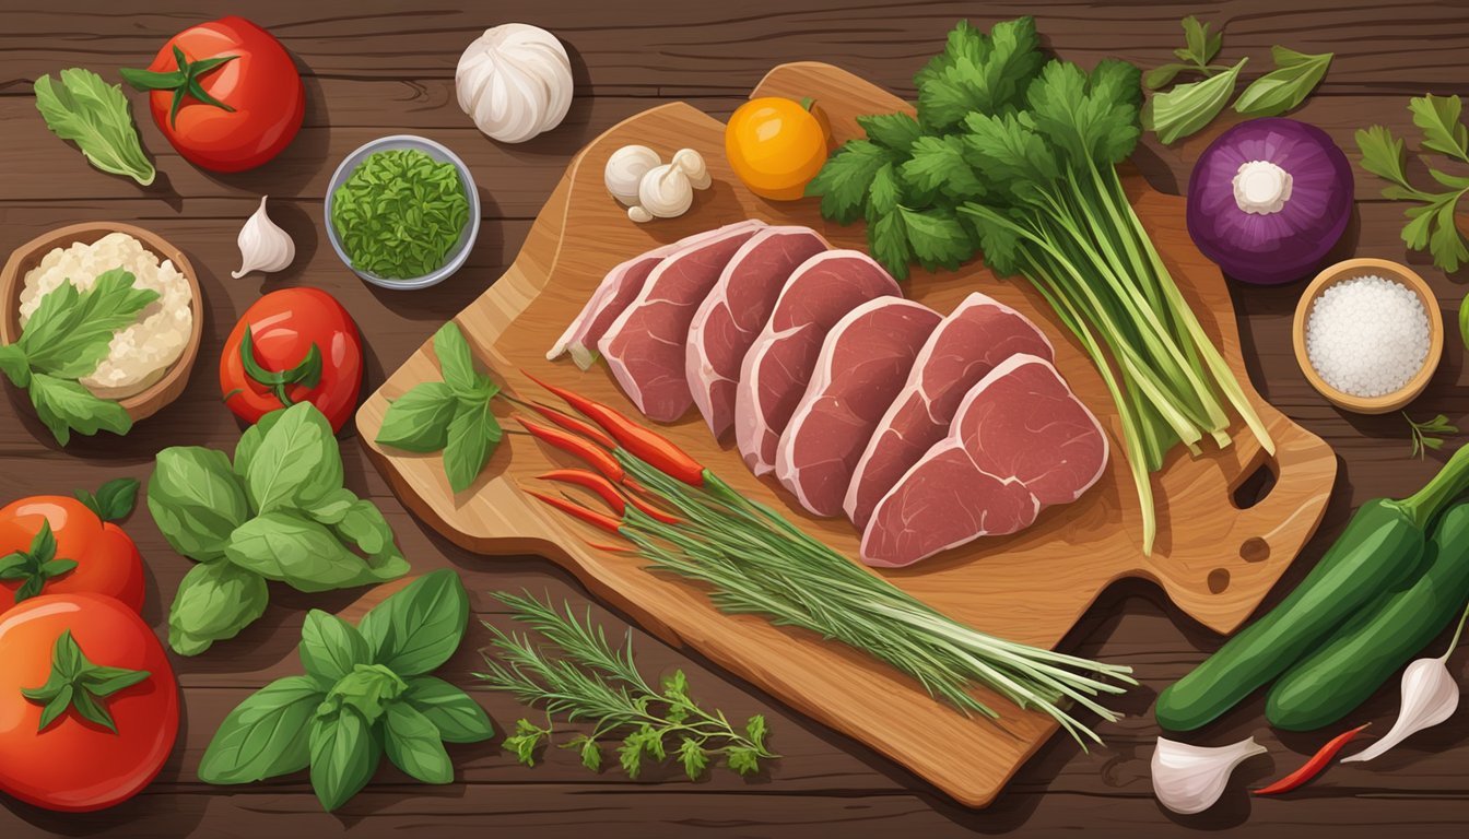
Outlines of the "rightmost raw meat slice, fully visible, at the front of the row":
[{"label": "rightmost raw meat slice, fully visible, at the front of the row", "polygon": [[1011,356],[965,394],[949,426],[862,532],[862,561],[911,566],[980,536],[1028,527],[1102,478],[1108,441],[1044,359]]}]

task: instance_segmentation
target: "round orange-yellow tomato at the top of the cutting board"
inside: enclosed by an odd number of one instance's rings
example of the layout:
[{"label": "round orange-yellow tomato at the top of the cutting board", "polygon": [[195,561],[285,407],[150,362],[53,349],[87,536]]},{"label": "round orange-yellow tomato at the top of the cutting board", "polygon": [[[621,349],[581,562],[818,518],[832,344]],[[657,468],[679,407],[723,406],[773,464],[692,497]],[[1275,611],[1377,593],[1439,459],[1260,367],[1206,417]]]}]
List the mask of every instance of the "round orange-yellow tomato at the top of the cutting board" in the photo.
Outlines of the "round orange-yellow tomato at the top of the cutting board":
[{"label": "round orange-yellow tomato at the top of the cutting board", "polygon": [[[809,100],[808,100],[809,101]],[[826,163],[830,129],[806,103],[767,96],[739,106],[724,126],[724,154],[751,192],[776,201],[805,194]]]}]

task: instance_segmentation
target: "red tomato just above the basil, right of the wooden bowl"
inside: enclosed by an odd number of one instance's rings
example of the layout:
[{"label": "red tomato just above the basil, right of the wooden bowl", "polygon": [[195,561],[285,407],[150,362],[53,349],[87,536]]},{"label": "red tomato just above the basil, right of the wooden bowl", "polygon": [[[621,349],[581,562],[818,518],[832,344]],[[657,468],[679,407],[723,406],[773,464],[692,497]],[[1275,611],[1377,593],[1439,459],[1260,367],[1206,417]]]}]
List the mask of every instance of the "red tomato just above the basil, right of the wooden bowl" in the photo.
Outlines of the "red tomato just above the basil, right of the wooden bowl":
[{"label": "red tomato just above the basil, right of the wooden bowl", "polygon": [[[248,356],[242,353],[247,329]],[[284,288],[257,300],[235,323],[219,357],[225,404],[250,423],[308,401],[341,431],[357,410],[361,384],[357,323],[335,297],[316,288]]]}]

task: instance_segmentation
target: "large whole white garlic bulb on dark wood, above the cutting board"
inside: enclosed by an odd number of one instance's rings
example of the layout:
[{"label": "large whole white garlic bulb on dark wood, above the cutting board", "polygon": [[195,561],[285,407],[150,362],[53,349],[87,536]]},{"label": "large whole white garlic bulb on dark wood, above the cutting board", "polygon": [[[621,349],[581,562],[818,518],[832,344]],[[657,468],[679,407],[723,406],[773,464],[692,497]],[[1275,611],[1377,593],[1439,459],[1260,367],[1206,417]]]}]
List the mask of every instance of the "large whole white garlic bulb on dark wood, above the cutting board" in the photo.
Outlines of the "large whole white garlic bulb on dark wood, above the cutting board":
[{"label": "large whole white garlic bulb on dark wood, above the cutting board", "polygon": [[571,87],[566,47],[529,24],[485,29],[454,72],[460,110],[501,143],[524,143],[560,125],[571,107]]}]

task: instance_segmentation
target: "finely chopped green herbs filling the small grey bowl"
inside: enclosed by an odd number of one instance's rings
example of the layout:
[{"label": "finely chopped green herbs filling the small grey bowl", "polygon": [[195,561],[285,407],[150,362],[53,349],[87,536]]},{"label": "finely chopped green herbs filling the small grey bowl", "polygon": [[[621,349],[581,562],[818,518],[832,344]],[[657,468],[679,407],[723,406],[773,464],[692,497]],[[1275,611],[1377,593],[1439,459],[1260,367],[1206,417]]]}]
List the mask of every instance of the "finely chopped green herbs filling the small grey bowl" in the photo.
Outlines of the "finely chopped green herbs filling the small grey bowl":
[{"label": "finely chopped green herbs filling the small grey bowl", "polygon": [[417,148],[369,154],[332,192],[332,226],[353,267],[388,279],[442,267],[467,222],[458,170]]}]

